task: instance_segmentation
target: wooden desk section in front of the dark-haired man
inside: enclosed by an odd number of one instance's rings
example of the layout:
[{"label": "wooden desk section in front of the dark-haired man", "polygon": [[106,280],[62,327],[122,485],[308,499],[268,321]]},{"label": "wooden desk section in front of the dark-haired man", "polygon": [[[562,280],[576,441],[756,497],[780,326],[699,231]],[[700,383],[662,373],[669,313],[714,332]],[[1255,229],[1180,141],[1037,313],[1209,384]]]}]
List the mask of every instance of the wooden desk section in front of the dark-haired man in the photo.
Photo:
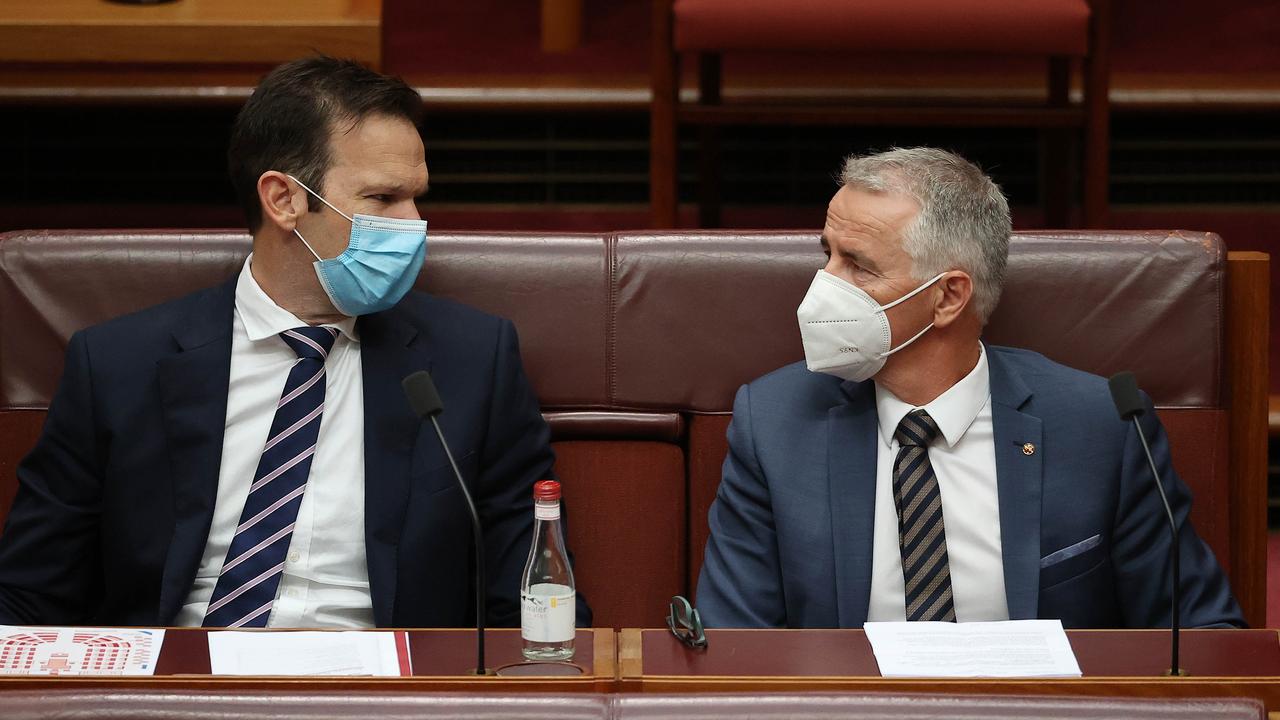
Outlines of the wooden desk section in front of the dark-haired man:
[{"label": "wooden desk section in front of the dark-haired man", "polygon": [[[280,630],[287,632],[287,630]],[[553,692],[605,693],[614,689],[614,632],[579,630],[573,664],[581,675],[484,676],[468,675],[475,667],[475,630],[410,630],[412,678],[260,678],[210,675],[209,642],[204,628],[173,628],[165,632],[156,673],[141,678],[35,678],[0,676],[0,692],[13,689],[148,688],[148,689],[288,689],[306,685],[328,691],[453,691],[453,692]],[[520,630],[498,629],[485,634],[485,662],[490,667],[520,664]]]}]

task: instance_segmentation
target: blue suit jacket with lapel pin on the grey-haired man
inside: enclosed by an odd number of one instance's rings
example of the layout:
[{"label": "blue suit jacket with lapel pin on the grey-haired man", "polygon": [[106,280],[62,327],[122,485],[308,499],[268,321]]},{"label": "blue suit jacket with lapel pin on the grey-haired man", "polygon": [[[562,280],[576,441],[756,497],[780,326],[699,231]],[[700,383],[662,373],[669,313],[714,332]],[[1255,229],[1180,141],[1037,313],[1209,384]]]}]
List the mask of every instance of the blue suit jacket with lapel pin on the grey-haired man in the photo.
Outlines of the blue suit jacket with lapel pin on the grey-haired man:
[{"label": "blue suit jacket with lapel pin on the grey-haired man", "polygon": [[[1169,626],[1169,520],[1106,380],[987,347],[1011,619],[1069,628]],[[1181,623],[1244,625],[1187,514],[1147,401],[1143,430],[1181,527]],[[858,628],[867,621],[876,507],[872,382],[795,364],[742,387],[710,510],[698,607],[712,626]],[[1033,455],[1023,454],[1034,443]]]}]

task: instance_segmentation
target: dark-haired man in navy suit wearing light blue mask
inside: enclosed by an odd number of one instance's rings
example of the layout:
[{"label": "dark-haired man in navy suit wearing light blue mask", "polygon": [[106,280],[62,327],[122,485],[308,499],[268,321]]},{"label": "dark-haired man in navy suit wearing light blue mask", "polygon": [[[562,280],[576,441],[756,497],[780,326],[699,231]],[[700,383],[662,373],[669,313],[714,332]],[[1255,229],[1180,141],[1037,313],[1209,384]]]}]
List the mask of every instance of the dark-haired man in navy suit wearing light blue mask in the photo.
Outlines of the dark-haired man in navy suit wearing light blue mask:
[{"label": "dark-haired man in navy suit wearing light blue mask", "polygon": [[401,389],[422,369],[484,523],[488,621],[518,623],[549,432],[512,324],[410,292],[420,113],[355,63],[262,79],[228,154],[253,252],[72,337],[0,537],[0,623],[474,624],[461,492]]}]

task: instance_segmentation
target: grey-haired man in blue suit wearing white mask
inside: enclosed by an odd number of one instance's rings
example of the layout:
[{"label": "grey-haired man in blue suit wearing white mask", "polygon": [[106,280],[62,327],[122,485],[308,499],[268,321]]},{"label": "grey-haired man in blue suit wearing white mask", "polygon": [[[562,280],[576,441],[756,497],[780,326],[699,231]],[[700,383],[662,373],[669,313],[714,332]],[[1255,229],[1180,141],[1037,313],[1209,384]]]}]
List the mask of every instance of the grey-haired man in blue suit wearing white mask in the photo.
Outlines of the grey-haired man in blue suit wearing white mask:
[{"label": "grey-haired man in blue suit wearing white mask", "polygon": [[[1009,254],[1000,188],[932,149],[850,158],[842,181],[797,310],[805,363],[733,405],[704,623],[1167,626],[1169,524],[1106,380],[980,341]],[[1181,528],[1181,621],[1243,626],[1147,410]]]}]

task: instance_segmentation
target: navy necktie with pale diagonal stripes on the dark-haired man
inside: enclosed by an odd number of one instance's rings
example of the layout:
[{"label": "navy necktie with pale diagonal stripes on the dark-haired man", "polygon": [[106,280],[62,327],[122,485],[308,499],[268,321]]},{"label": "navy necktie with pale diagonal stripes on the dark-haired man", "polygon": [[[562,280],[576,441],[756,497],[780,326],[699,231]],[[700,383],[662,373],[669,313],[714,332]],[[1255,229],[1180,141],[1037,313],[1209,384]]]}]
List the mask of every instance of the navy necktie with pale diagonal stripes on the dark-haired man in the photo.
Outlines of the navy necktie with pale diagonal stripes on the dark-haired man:
[{"label": "navy necktie with pale diagonal stripes on the dark-haired man", "polygon": [[298,359],[275,406],[253,484],[209,598],[206,628],[266,626],[311,474],[324,413],[324,363],[338,331],[302,327],[280,337]]}]

